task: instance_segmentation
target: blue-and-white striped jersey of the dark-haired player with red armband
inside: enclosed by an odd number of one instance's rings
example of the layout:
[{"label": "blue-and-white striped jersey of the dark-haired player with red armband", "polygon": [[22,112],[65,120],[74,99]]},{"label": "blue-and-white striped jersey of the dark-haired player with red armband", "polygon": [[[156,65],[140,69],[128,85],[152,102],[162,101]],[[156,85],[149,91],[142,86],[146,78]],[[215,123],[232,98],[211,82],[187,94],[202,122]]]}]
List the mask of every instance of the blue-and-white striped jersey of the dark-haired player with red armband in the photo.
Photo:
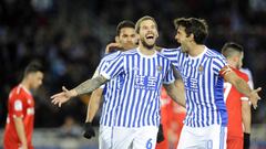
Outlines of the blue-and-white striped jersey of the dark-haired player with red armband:
[{"label": "blue-and-white striped jersey of the dark-haired player with red armband", "polygon": [[224,78],[219,71],[227,65],[218,52],[205,47],[196,57],[178,49],[164,49],[162,54],[170,58],[181,72],[186,91],[186,118],[190,127],[205,127],[213,124],[227,125],[224,103]]}]

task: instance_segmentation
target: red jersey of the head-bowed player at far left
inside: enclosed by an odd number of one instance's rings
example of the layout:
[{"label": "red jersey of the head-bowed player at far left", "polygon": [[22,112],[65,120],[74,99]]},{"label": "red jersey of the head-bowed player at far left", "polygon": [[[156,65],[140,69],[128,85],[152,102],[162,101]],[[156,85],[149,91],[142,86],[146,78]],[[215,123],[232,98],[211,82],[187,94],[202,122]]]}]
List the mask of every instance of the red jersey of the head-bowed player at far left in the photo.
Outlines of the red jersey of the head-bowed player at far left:
[{"label": "red jersey of the head-bowed player at far left", "polygon": [[22,85],[18,85],[9,94],[8,117],[3,139],[4,149],[18,149],[21,146],[14,126],[14,117],[22,117],[28,148],[33,149],[31,138],[34,123],[34,99],[31,93]]}]

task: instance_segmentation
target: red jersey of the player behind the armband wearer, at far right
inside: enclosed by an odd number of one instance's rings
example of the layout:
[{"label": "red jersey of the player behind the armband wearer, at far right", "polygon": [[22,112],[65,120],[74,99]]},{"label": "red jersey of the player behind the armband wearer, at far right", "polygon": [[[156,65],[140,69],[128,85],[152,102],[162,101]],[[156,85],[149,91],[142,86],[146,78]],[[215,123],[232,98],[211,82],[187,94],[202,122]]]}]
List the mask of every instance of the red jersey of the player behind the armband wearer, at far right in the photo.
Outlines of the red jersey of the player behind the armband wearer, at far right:
[{"label": "red jersey of the player behind the armband wearer, at far right", "polygon": [[[248,76],[239,70],[232,68],[239,77],[248,82]],[[224,84],[224,98],[228,113],[228,137],[243,137],[242,100],[247,100],[232,84]]]}]

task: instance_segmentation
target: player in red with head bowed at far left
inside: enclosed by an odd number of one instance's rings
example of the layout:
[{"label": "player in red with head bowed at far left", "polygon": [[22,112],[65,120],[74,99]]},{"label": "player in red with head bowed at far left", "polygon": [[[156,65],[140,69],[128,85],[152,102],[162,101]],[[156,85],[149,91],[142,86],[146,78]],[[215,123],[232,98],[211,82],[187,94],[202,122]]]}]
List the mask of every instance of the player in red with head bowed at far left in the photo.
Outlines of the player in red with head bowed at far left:
[{"label": "player in red with head bowed at far left", "polygon": [[31,137],[34,124],[34,99],[31,91],[42,84],[42,72],[40,63],[30,63],[24,70],[22,82],[9,94],[3,135],[4,149],[33,149]]}]

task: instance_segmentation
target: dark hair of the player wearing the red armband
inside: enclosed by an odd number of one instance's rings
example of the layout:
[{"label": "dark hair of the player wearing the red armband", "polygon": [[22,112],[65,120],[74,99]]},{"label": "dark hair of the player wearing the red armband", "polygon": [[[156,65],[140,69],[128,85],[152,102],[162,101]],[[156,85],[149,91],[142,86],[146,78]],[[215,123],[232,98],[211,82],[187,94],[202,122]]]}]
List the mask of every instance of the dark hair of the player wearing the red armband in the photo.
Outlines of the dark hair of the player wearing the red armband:
[{"label": "dark hair of the player wearing the red armband", "polygon": [[197,44],[203,44],[208,35],[208,25],[204,19],[196,18],[177,18],[174,20],[175,29],[184,26],[187,36],[194,34]]}]

